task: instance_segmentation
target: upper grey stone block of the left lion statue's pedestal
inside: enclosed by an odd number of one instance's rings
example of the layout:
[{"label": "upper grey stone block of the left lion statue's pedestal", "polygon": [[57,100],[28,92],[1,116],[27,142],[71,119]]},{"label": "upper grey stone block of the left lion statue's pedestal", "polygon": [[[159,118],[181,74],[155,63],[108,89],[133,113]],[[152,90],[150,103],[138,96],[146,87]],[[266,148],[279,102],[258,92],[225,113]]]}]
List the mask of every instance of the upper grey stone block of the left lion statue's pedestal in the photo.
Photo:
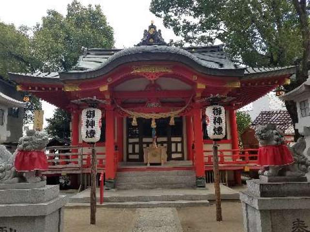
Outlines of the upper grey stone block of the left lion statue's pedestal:
[{"label": "upper grey stone block of the left lion statue's pedestal", "polygon": [[0,204],[44,203],[57,198],[58,185],[47,185],[42,188],[0,189]]}]

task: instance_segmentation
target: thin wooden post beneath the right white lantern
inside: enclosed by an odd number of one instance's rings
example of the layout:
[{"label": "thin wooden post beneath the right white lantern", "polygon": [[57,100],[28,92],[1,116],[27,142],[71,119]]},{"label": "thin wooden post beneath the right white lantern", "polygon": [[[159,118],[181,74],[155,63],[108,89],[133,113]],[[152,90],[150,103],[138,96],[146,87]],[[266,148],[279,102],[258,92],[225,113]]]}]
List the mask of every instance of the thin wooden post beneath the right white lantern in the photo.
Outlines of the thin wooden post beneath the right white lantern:
[{"label": "thin wooden post beneath the right white lantern", "polygon": [[218,171],[218,156],[217,156],[217,141],[213,140],[213,174],[214,174],[214,188],[217,206],[217,221],[222,221],[221,208],[221,189],[219,186],[219,171]]}]

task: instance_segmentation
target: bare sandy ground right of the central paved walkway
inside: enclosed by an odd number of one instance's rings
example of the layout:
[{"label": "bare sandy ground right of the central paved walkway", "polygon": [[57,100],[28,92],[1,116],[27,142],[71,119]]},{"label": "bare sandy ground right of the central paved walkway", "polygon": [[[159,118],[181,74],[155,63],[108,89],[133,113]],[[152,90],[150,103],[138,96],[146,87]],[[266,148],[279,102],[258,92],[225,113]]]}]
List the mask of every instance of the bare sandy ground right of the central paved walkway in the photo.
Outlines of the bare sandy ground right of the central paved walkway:
[{"label": "bare sandy ground right of the central paved walkway", "polygon": [[240,202],[222,202],[223,221],[216,221],[216,206],[178,208],[183,232],[243,232]]}]

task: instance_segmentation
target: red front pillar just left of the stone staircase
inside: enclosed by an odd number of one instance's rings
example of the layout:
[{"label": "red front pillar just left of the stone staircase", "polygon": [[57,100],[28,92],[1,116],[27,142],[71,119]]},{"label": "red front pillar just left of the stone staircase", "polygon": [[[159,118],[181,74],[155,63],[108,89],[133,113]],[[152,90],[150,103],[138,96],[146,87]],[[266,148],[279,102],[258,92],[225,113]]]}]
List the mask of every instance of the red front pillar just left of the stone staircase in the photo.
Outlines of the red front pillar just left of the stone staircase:
[{"label": "red front pillar just left of the stone staircase", "polygon": [[[115,178],[114,165],[114,114],[112,109],[106,110],[106,181]],[[113,184],[112,184],[113,185]],[[112,187],[110,185],[110,187]],[[113,188],[113,187],[112,187]]]}]

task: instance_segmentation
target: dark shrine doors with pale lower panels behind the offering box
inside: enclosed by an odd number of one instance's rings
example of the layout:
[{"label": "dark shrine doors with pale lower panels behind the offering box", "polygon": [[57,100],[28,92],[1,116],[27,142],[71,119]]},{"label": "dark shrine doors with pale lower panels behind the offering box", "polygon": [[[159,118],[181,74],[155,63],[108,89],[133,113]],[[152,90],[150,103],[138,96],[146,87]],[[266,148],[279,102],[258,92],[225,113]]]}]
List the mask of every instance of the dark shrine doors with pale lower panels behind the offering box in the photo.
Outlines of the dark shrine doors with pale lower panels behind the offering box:
[{"label": "dark shrine doors with pale lower panels behind the offering box", "polygon": [[[169,118],[156,119],[157,145],[167,147],[167,160],[184,160],[183,117],[175,117],[175,125]],[[143,161],[143,148],[152,145],[151,119],[138,118],[138,126],[132,126],[132,118],[126,119],[127,161]]]}]

